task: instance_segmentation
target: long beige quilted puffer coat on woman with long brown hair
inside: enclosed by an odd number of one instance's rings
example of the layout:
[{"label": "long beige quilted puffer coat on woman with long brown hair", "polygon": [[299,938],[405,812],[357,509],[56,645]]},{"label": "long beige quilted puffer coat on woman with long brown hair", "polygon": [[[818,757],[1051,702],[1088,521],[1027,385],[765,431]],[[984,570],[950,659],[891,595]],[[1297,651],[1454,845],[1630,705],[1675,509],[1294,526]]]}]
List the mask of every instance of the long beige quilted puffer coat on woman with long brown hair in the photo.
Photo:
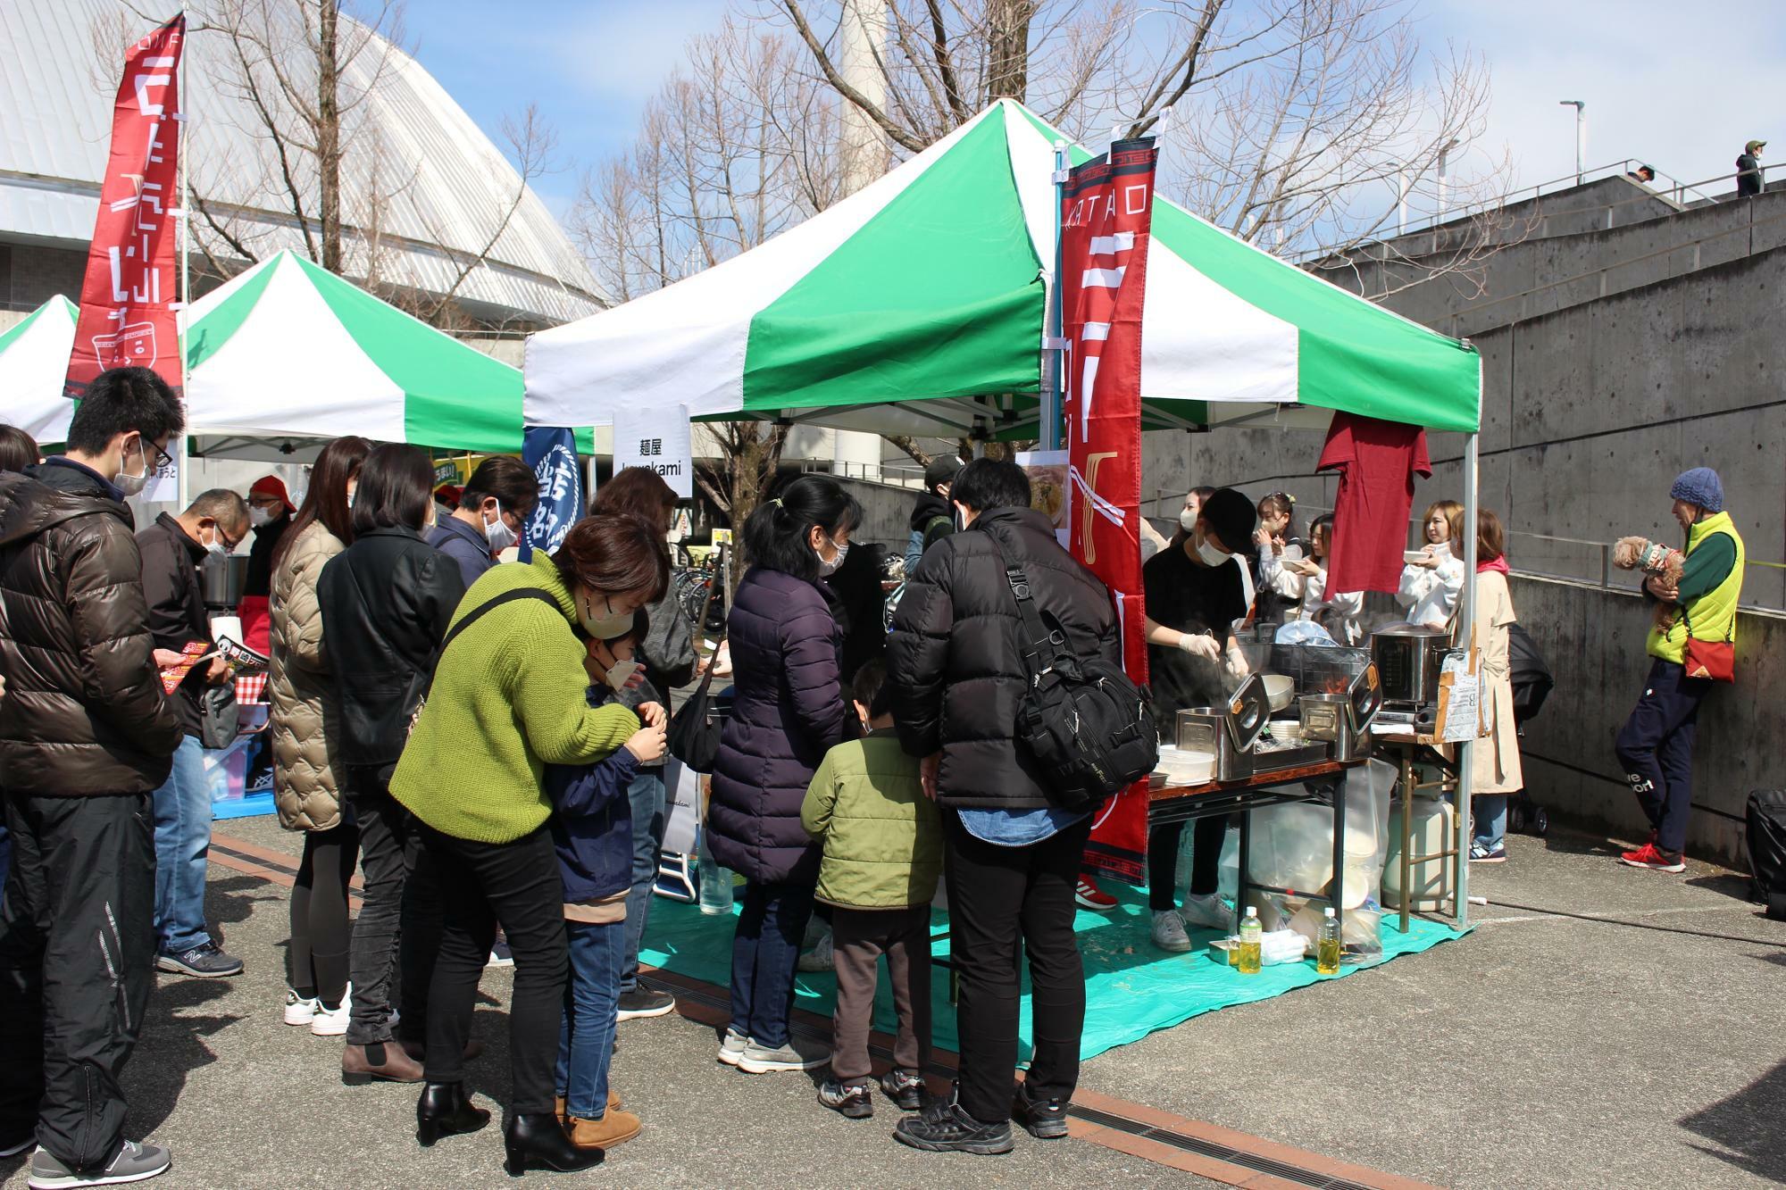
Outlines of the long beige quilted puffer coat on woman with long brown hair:
[{"label": "long beige quilted puffer coat on woman with long brown hair", "polygon": [[316,579],[343,549],[321,522],[311,522],[273,572],[273,665],[266,691],[273,706],[273,802],[288,831],[329,831],[341,822],[341,765],[334,745],[341,720],[323,656]]}]

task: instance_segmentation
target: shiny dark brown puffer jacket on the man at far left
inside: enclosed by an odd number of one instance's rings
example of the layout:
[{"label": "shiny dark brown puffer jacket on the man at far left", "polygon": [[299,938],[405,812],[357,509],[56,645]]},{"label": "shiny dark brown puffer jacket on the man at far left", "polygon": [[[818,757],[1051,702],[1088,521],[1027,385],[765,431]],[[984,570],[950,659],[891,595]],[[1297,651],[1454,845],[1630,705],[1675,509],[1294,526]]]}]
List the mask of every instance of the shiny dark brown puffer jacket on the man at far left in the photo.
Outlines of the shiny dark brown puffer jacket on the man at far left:
[{"label": "shiny dark brown puffer jacket on the man at far left", "polygon": [[130,511],[86,468],[0,475],[0,788],[152,793],[180,722],[150,656]]}]

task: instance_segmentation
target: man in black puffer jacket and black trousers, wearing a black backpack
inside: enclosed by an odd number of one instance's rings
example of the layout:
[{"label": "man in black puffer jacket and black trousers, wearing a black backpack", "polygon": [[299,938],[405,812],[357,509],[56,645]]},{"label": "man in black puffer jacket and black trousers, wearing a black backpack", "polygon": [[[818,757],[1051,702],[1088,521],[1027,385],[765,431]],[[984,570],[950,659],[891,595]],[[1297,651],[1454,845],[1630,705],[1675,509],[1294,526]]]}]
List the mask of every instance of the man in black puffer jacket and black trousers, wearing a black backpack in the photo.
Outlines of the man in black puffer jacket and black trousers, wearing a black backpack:
[{"label": "man in black puffer jacket and black trousers, wearing a black backpack", "polygon": [[[1016,745],[1029,674],[1006,561],[1022,566],[1039,611],[1059,620],[1075,654],[1114,665],[1122,658],[1109,591],[1059,547],[1029,499],[1018,465],[968,463],[950,488],[968,527],[923,556],[888,640],[900,743],[925,758],[925,784],[945,809],[961,976],[956,1095],[895,1131],[916,1149],[1007,1152],[1013,1111],[1036,1136],[1064,1136],[1079,1081],[1086,981],[1073,884],[1091,815],[1056,809],[1048,774]],[[1029,951],[1036,1051],[1013,1102],[1020,938]]]}]

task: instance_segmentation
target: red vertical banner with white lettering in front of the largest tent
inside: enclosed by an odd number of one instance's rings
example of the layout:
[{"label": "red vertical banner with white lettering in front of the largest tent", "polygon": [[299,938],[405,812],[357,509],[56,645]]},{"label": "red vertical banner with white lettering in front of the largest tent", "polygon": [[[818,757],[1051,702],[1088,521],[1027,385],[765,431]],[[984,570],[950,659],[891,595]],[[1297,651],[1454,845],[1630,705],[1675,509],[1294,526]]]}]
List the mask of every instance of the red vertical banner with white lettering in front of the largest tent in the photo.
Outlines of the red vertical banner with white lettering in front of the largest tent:
[{"label": "red vertical banner with white lettering in front of the largest tent", "polygon": [[[1141,604],[1141,297],[1154,216],[1152,138],[1072,170],[1061,195],[1072,550],[1109,586],[1123,668],[1147,683]],[[1098,811],[1088,867],[1147,881],[1147,783]]]}]

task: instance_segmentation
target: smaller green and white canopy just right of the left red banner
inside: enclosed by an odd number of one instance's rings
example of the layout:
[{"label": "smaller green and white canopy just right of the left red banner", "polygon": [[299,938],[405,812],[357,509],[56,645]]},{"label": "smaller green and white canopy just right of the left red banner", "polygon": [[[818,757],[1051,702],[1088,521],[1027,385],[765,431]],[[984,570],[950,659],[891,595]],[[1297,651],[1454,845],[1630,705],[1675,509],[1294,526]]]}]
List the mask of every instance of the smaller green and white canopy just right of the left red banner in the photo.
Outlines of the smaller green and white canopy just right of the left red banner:
[{"label": "smaller green and white canopy just right of the left red banner", "polygon": [[522,448],[522,373],[291,252],[193,302],[189,434]]}]

